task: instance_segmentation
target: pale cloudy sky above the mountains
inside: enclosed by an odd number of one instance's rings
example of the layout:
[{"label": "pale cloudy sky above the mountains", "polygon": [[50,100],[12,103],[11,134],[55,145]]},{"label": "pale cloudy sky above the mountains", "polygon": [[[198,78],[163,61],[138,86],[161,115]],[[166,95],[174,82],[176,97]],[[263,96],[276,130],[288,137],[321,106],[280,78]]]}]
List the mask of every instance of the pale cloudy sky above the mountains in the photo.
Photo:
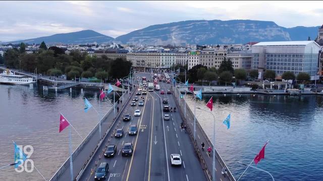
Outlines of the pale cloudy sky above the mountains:
[{"label": "pale cloudy sky above the mountains", "polygon": [[94,30],[118,37],[186,20],[261,20],[286,28],[323,24],[323,1],[0,1],[0,41]]}]

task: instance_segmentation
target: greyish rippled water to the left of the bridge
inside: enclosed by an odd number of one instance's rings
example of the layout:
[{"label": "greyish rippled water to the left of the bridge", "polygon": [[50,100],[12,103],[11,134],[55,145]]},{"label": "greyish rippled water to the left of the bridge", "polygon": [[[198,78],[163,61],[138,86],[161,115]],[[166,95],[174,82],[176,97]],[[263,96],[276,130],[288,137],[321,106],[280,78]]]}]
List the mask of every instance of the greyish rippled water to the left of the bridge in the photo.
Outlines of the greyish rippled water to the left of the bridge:
[{"label": "greyish rippled water to the left of the bridge", "polygon": [[[103,116],[111,104],[98,100],[98,89],[73,88],[58,94],[44,94],[42,85],[34,89],[24,85],[0,85],[0,167],[14,162],[14,145],[31,145],[34,152],[30,159],[35,167],[49,180],[69,156],[68,130],[59,133],[60,112],[84,138],[98,123],[99,116],[90,109],[84,113],[84,97]],[[112,98],[113,100],[113,98]],[[104,114],[103,114],[104,113]],[[73,149],[82,139],[72,131]],[[0,180],[43,180],[33,172],[18,173],[13,166],[0,170]]]}]

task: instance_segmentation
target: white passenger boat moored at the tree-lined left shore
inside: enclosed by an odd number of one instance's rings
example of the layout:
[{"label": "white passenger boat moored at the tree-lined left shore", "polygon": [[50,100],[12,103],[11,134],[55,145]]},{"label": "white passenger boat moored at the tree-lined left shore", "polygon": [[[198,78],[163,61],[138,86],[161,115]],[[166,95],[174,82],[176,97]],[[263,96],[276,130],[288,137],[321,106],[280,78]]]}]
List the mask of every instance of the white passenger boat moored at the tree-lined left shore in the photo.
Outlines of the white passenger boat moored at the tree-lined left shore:
[{"label": "white passenger boat moored at the tree-lined left shore", "polygon": [[18,84],[18,85],[29,85],[30,83],[35,83],[32,77],[26,75],[16,75],[15,72],[10,70],[4,70],[0,74],[0,83],[4,84]]}]

